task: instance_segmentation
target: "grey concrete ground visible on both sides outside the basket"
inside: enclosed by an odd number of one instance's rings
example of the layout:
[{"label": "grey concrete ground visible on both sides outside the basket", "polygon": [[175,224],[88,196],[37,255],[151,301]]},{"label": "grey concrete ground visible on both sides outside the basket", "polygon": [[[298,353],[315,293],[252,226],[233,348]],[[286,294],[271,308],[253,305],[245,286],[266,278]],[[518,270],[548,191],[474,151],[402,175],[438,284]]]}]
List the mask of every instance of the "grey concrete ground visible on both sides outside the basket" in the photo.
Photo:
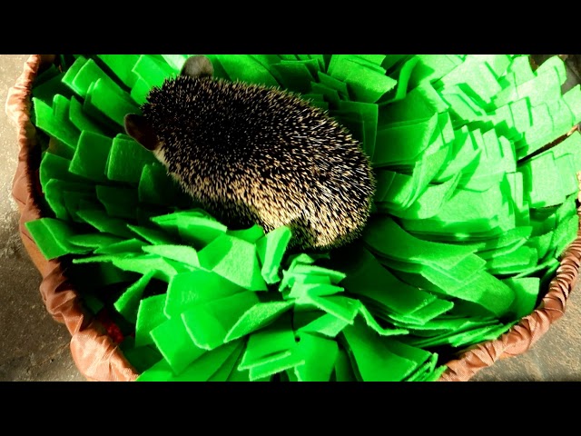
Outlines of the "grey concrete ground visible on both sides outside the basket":
[{"label": "grey concrete ground visible on both sides outside the basket", "polygon": [[[84,381],[69,351],[68,331],[44,309],[40,274],[17,233],[18,211],[11,194],[17,144],[4,104],[27,58],[0,54],[0,381]],[[531,350],[495,363],[472,381],[581,381],[578,286],[565,315]]]}]

